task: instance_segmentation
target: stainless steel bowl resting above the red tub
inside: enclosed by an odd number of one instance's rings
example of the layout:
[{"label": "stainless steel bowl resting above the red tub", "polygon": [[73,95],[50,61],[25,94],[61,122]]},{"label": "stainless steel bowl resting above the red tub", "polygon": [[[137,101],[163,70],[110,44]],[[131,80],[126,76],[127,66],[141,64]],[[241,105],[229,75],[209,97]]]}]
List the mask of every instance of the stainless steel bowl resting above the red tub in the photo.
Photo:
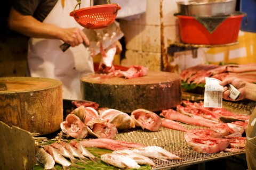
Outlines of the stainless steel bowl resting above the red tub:
[{"label": "stainless steel bowl resting above the red tub", "polygon": [[180,15],[224,16],[235,12],[236,0],[193,0],[177,2]]}]

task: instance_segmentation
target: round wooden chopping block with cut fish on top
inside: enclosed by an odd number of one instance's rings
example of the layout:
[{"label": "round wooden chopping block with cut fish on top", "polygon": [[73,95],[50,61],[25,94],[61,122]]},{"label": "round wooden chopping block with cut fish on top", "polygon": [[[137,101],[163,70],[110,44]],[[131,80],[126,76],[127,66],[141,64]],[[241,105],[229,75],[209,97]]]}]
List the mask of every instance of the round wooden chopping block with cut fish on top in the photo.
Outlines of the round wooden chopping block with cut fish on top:
[{"label": "round wooden chopping block with cut fish on top", "polygon": [[148,72],[145,77],[133,79],[95,73],[82,77],[81,84],[83,99],[125,113],[138,108],[162,111],[181,101],[180,77],[170,72]]}]

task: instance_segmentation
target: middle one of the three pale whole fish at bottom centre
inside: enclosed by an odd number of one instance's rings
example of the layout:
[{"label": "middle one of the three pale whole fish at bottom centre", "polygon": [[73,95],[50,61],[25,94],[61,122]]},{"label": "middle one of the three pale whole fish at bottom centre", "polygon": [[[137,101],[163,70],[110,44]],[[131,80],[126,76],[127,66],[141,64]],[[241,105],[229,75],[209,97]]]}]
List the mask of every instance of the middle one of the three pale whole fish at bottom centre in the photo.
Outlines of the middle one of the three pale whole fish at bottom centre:
[{"label": "middle one of the three pale whole fish at bottom centre", "polygon": [[152,165],[152,166],[156,166],[155,163],[153,162],[153,160],[151,160],[150,158],[140,155],[140,154],[136,154],[135,152],[133,152],[130,149],[123,149],[123,150],[115,150],[112,153],[118,153],[118,154],[122,154],[124,156],[127,156],[129,158],[132,158],[133,160],[135,160],[138,164],[140,165]]}]

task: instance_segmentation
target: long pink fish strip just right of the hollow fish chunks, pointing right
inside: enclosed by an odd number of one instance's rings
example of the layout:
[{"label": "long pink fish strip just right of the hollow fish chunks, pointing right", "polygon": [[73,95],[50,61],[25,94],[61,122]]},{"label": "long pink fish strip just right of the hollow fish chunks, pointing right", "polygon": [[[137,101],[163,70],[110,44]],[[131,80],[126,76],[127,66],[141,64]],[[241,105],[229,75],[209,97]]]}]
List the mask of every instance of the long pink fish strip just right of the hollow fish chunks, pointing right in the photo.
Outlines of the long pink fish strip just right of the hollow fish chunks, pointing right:
[{"label": "long pink fish strip just right of the hollow fish chunks, pointing right", "polygon": [[179,122],[183,122],[186,124],[197,125],[197,126],[204,126],[207,128],[210,128],[211,126],[214,125],[214,123],[205,122],[203,120],[196,120],[195,118],[181,114],[177,111],[174,111],[173,109],[163,110],[162,113],[160,114],[160,116],[163,116],[163,117],[173,120],[173,121],[179,121]]}]

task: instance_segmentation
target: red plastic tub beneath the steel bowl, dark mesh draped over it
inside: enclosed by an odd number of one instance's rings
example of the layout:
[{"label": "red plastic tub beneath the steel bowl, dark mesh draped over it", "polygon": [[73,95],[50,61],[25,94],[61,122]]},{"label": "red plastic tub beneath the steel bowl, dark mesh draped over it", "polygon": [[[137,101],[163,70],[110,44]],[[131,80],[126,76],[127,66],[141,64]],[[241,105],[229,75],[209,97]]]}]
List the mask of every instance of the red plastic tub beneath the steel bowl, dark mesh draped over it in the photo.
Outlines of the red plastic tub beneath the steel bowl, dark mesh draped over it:
[{"label": "red plastic tub beneath the steel bowl, dark mesh draped over it", "polygon": [[244,14],[228,16],[210,33],[193,16],[177,15],[182,43],[197,45],[221,45],[235,43]]}]

